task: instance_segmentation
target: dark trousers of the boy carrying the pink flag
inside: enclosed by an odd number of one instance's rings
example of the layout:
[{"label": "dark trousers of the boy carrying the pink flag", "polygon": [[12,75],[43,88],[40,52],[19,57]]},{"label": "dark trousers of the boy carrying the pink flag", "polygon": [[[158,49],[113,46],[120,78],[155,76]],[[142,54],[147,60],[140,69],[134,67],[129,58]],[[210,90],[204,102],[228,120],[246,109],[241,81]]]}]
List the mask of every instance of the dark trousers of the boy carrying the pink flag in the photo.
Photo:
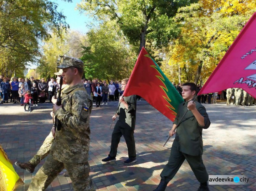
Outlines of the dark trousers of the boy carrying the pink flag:
[{"label": "dark trousers of the boy carrying the pink flag", "polygon": [[179,143],[176,140],[173,141],[171,155],[168,163],[163,168],[160,174],[161,178],[164,179],[166,182],[169,182],[178,172],[185,159],[187,160],[189,166],[191,167],[197,180],[200,183],[205,183],[206,181],[208,181],[209,175],[203,164],[202,155],[191,156],[180,152]]}]

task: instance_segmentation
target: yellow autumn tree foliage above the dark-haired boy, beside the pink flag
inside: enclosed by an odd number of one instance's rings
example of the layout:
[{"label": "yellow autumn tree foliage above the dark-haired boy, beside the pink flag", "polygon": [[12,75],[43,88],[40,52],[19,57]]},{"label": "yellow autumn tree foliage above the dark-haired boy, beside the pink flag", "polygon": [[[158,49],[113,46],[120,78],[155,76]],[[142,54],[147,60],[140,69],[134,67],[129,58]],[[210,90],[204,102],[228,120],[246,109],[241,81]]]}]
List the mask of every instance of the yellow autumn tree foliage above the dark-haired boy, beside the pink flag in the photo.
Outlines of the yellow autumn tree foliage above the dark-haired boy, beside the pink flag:
[{"label": "yellow autumn tree foliage above the dark-haired boy, beside the pink flag", "polygon": [[204,82],[256,11],[255,0],[228,2],[200,0],[178,10],[181,35],[172,41],[169,62],[176,82]]}]

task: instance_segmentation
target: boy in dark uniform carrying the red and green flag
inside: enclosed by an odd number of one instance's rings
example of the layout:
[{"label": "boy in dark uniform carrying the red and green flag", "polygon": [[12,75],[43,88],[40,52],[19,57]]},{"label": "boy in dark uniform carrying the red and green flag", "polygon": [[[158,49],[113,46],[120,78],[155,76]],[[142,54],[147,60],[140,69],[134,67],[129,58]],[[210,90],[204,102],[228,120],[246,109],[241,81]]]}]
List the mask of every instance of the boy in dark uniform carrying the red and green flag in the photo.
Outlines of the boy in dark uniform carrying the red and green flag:
[{"label": "boy in dark uniform carrying the red and green flag", "polygon": [[[128,79],[122,80],[122,90],[128,83]],[[117,113],[112,117],[114,121],[116,116],[119,115],[119,119],[115,124],[112,138],[111,138],[111,150],[109,156],[102,159],[103,162],[109,162],[116,160],[116,153],[120,138],[124,136],[125,142],[128,148],[129,158],[124,161],[125,164],[136,162],[136,150],[134,141],[134,128],[136,120],[136,95],[130,95],[128,97],[120,97]]]}]

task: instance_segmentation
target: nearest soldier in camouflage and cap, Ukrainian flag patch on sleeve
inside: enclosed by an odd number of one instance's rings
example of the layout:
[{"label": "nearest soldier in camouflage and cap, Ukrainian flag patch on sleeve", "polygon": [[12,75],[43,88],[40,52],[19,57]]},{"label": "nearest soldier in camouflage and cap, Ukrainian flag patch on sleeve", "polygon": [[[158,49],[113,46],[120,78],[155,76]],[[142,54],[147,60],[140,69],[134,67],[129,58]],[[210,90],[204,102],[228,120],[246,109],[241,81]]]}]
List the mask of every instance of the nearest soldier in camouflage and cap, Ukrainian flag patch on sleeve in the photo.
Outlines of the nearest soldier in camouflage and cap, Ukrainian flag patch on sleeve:
[{"label": "nearest soldier in camouflage and cap, Ukrainian flag patch on sleeve", "polygon": [[32,178],[28,191],[45,190],[64,168],[74,191],[94,191],[88,163],[89,117],[93,102],[81,83],[83,62],[66,56],[58,68],[63,69],[63,80],[70,85],[62,91],[62,104],[53,107],[61,129],[56,132],[52,129],[55,139],[50,154]]}]

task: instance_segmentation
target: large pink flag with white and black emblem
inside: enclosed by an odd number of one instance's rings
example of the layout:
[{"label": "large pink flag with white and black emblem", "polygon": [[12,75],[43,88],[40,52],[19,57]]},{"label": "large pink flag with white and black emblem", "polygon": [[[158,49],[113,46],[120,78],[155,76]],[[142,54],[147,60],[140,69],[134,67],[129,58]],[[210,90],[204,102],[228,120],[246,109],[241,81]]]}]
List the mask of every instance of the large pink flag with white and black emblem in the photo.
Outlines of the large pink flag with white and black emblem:
[{"label": "large pink flag with white and black emblem", "polygon": [[245,24],[200,94],[242,88],[256,98],[256,13]]}]

